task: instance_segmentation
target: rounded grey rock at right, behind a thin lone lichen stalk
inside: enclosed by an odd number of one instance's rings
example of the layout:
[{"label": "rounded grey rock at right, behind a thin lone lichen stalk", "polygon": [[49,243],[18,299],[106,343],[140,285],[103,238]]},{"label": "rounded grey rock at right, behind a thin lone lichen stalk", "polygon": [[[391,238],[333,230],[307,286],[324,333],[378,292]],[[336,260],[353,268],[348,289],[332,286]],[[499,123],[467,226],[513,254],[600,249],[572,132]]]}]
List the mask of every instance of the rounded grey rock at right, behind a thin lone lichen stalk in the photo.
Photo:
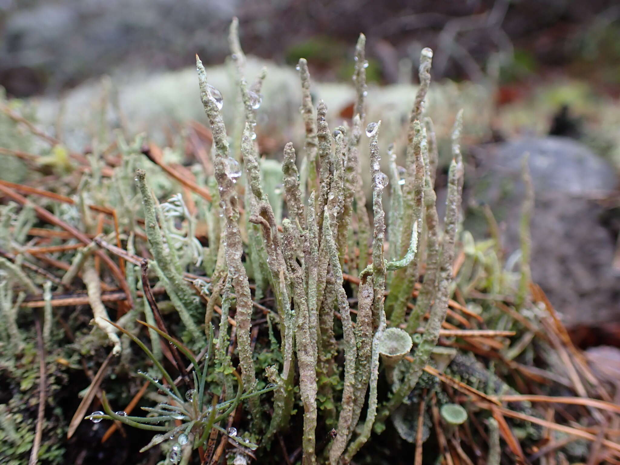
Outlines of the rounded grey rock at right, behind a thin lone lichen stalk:
[{"label": "rounded grey rock at right, behind a thin lone lichen stalk", "polygon": [[[573,139],[554,136],[485,146],[474,151],[480,167],[469,195],[475,203],[488,203],[503,223],[507,253],[517,250],[521,166],[528,153],[536,199],[531,219],[534,282],[569,325],[619,321],[615,239],[601,224],[604,208],[596,201],[613,192],[617,178],[603,159]],[[474,217],[466,222],[469,226],[482,231]]]}]

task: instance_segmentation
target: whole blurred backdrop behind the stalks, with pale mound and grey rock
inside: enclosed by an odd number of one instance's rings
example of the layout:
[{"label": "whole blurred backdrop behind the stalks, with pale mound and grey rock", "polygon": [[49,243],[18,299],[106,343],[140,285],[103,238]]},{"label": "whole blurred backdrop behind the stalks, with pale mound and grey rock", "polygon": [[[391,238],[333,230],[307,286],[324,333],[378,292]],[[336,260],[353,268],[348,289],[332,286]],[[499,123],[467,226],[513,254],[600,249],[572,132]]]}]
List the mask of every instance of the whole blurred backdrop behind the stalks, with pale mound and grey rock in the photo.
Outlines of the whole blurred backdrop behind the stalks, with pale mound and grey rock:
[{"label": "whole blurred backdrop behind the stalks, with pale mound and grey rock", "polygon": [[[224,100],[232,98],[233,74],[222,64],[233,16],[254,57],[249,79],[268,68],[257,127],[268,156],[299,140],[300,57],[337,124],[352,116],[353,52],[365,33],[368,120],[391,117],[401,130],[420,50],[431,47],[428,107],[444,161],[454,114],[465,110],[467,228],[488,234],[490,206],[507,254],[515,253],[523,187],[513,181],[529,154],[534,280],[575,337],[620,341],[620,327],[609,324],[620,321],[617,1],[0,0],[0,86],[37,102],[39,122],[76,150],[90,140],[83,128],[102,92],[120,102],[108,119],[170,142],[187,127],[172,120],[205,124],[195,53]],[[155,121],[166,130],[155,130]],[[398,146],[396,132],[384,137],[384,146]]]}]

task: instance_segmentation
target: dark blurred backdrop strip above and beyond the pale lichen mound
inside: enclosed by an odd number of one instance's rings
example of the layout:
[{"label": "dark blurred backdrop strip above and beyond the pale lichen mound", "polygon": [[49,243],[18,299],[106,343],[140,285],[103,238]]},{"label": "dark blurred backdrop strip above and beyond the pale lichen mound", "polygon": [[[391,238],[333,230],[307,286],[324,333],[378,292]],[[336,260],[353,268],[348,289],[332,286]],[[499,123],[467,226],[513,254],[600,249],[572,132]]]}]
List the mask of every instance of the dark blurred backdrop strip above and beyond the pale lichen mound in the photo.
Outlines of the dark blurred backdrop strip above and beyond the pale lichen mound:
[{"label": "dark blurred backdrop strip above and beyond the pale lichen mound", "polygon": [[503,84],[561,75],[620,92],[613,0],[0,0],[0,85],[27,97],[122,69],[182,68],[194,53],[221,63],[235,15],[246,53],[289,64],[303,55],[323,80],[349,79],[364,32],[370,78],[382,83],[431,47],[436,80],[482,79],[500,55]]}]

